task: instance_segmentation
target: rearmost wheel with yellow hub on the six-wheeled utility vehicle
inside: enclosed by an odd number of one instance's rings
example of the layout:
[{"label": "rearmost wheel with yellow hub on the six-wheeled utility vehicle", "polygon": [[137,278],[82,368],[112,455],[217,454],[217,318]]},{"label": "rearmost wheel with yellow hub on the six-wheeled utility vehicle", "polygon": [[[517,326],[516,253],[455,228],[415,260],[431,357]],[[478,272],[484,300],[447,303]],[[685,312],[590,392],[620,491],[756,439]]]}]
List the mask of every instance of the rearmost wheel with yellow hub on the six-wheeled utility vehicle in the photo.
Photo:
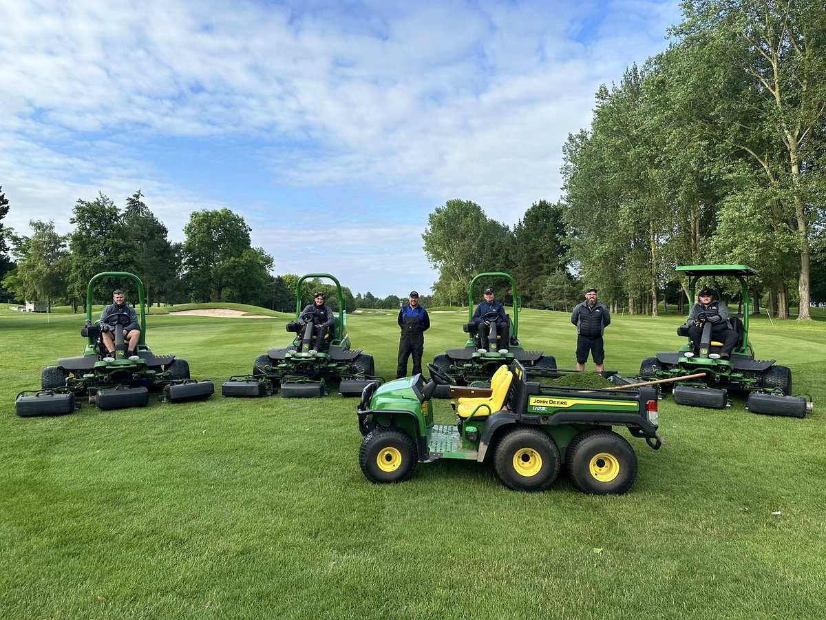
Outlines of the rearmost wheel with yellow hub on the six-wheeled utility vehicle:
[{"label": "rearmost wheel with yellow hub on the six-wheeled utility vehicle", "polygon": [[568,444],[565,467],[582,493],[620,495],[637,478],[637,454],[623,436],[594,429],[581,432]]}]

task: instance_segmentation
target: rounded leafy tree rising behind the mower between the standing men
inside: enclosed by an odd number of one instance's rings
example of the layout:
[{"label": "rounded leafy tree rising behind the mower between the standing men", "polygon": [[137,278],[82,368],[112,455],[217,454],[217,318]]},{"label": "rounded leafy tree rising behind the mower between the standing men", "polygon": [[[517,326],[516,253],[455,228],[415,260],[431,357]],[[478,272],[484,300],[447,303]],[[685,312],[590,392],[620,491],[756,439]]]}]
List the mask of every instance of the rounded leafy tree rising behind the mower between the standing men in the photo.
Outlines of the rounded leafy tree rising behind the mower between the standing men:
[{"label": "rounded leafy tree rising behind the mower between the standing men", "polygon": [[449,200],[428,217],[422,234],[425,255],[436,269],[434,301],[463,305],[468,283],[482,271],[510,271],[513,267],[513,233],[467,200]]}]

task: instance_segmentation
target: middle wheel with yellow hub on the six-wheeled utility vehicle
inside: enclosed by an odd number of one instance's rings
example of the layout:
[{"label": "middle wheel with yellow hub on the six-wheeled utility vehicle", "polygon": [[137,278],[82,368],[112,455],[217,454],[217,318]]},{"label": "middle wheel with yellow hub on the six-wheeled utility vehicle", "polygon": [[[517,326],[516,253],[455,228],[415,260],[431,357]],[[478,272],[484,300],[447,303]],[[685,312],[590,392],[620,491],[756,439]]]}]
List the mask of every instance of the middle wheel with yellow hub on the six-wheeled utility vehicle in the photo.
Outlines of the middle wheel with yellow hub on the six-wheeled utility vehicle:
[{"label": "middle wheel with yellow hub on the six-wheeled utility vehicle", "polygon": [[518,427],[496,444],[496,475],[509,489],[544,491],[559,475],[559,448],[539,428]]}]

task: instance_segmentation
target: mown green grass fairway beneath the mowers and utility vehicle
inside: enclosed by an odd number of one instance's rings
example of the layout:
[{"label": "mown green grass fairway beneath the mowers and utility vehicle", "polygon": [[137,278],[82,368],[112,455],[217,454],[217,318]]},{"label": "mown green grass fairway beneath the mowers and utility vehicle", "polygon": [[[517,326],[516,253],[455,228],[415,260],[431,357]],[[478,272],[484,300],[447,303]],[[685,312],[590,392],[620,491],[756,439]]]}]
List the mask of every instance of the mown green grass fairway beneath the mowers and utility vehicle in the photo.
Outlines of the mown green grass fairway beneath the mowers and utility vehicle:
[{"label": "mown green grass fairway beneath the mowers and utility vehicle", "polygon": [[[520,317],[525,348],[574,365],[569,315]],[[463,345],[466,318],[431,315],[425,360]],[[598,498],[564,475],[517,493],[464,461],[370,484],[354,399],[222,398],[230,374],[286,345],[287,320],[150,316],[153,350],[187,359],[216,396],[113,412],[84,401],[74,415],[24,419],[17,393],[81,353],[83,315],[0,316],[0,618],[822,616],[826,323],[752,321],[757,357],[790,366],[814,414],[669,397],[665,445],[631,439],[634,487]],[[348,322],[354,347],[392,379],[396,312]],[[676,349],[679,322],[613,317],[606,368],[636,374]],[[449,404],[434,403],[450,421]]]}]

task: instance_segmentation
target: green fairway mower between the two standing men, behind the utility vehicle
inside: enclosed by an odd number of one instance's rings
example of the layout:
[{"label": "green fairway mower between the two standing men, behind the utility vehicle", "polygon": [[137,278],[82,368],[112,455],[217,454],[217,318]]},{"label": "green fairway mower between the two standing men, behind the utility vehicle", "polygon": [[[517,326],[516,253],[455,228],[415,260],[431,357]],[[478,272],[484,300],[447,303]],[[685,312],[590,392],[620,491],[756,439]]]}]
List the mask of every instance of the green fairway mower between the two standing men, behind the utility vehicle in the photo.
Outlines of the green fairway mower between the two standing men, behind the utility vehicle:
[{"label": "green fairway mower between the two standing men, behind the utility vehicle", "polygon": [[[477,324],[473,322],[473,290],[477,280],[486,277],[508,279],[513,295],[514,313],[513,321],[510,320],[510,316],[503,318],[498,312],[491,312],[483,317],[491,322],[487,349],[482,348],[482,338]],[[468,341],[462,348],[448,349],[444,355],[436,355],[433,365],[444,374],[452,376],[461,385],[489,381],[496,369],[503,364],[510,364],[513,360],[520,361],[531,376],[559,376],[553,372],[557,367],[557,360],[553,355],[544,355],[543,351],[525,351],[520,345],[519,308],[520,298],[516,293],[516,282],[510,274],[478,274],[471,280],[468,291],[468,322],[463,325],[463,330],[468,334]]]}]

